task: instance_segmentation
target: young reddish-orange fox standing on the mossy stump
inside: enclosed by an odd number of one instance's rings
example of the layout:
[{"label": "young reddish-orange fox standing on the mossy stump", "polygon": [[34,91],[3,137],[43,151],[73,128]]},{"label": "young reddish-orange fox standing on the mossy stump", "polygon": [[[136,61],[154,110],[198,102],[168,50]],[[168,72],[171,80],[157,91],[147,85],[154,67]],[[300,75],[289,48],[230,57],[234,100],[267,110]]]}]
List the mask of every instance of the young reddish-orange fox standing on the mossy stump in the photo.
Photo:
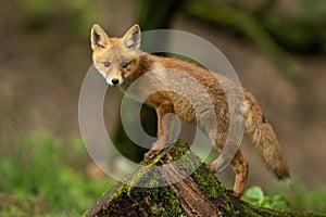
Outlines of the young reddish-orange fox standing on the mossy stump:
[{"label": "young reddish-orange fox standing on the mossy stump", "polygon": [[[139,85],[137,91],[147,91],[151,86],[164,86],[171,82],[167,76],[168,69],[179,71],[188,76],[195,78],[201,84],[214,104],[214,114],[217,123],[216,128],[210,128],[210,123],[201,123],[209,135],[214,135],[214,146],[217,151],[222,151],[226,141],[226,136],[229,126],[229,111],[228,102],[221,84],[226,84],[231,90],[230,92],[243,92],[243,103],[235,98],[234,102],[239,107],[239,119],[242,119],[246,136],[249,138],[255,149],[262,155],[266,167],[279,180],[289,177],[289,168],[287,161],[280,150],[275,132],[269,123],[263,116],[262,110],[259,106],[254,97],[249,93],[244,88],[239,87],[226,76],[215,74],[209,69],[200,67],[193,63],[185,62],[173,58],[162,58],[140,50],[140,27],[134,25],[121,38],[112,38],[98,25],[95,24],[91,29],[91,49],[92,61],[97,71],[104,77],[110,86],[118,86],[123,91],[126,91],[130,85],[141,76],[153,72],[160,71],[155,76],[150,76],[148,80]],[[173,80],[178,84],[178,80]],[[201,92],[196,92],[196,89],[190,91],[191,84],[188,86],[179,82],[180,88],[192,94],[195,103],[199,107],[205,107],[205,101],[201,98]],[[228,91],[229,91],[228,90]],[[168,118],[163,118],[164,115],[174,113],[183,122],[196,122],[196,113],[193,107],[187,99],[181,95],[162,90],[151,94],[146,103],[155,108],[158,115],[158,141],[154,142],[151,150],[145,155],[145,161],[149,161],[160,150],[164,149],[168,142],[168,129],[171,122]],[[204,112],[204,111],[203,111]],[[218,165],[223,161],[217,157],[213,161],[209,168],[211,171],[218,170]],[[240,197],[244,191],[248,178],[248,163],[244,159],[240,150],[238,150],[230,162],[236,173],[235,184],[233,193],[235,196]]]}]

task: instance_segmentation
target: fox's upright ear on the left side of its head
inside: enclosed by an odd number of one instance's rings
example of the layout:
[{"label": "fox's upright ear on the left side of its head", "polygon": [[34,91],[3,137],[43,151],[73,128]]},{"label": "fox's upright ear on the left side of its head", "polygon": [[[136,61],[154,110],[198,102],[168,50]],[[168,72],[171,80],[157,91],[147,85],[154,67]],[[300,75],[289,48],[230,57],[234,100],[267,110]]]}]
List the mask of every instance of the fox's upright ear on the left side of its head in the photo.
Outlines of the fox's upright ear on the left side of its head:
[{"label": "fox's upright ear on the left side of its head", "polygon": [[91,33],[90,33],[90,42],[91,42],[91,49],[97,50],[99,48],[103,49],[106,48],[109,44],[109,36],[105,34],[103,28],[95,24],[92,25]]}]

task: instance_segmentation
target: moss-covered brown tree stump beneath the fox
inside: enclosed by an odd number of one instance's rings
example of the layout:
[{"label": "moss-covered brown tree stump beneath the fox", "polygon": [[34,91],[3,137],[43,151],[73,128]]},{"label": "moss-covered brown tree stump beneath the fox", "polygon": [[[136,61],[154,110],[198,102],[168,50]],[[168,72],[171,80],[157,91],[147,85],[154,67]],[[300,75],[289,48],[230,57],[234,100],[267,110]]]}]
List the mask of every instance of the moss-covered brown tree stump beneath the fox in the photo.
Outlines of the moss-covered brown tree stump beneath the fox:
[{"label": "moss-covered brown tree stump beneath the fox", "polygon": [[[159,167],[173,162],[175,164],[168,169]],[[180,176],[186,178],[167,186],[160,184],[160,180],[178,180]],[[85,216],[317,215],[256,207],[234,197],[206,169],[206,165],[189,151],[188,144],[178,140],[149,164],[143,164],[124,181],[116,183]]]}]

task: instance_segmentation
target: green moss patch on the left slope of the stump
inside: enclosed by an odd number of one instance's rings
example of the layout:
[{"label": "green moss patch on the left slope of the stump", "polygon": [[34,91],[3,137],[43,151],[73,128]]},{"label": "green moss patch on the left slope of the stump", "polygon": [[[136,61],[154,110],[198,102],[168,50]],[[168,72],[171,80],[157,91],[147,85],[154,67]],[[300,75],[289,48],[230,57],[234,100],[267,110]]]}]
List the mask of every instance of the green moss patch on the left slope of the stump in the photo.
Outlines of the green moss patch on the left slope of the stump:
[{"label": "green moss patch on the left slope of the stump", "polygon": [[[185,150],[188,145],[184,142]],[[184,151],[178,152],[181,156]],[[187,216],[176,197],[175,193],[167,187],[161,187],[165,183],[165,179],[160,173],[158,165],[165,155],[165,151],[160,153],[156,157],[151,159],[147,165],[140,166],[130,177],[128,177],[128,184],[117,187],[108,203],[109,207],[102,207],[102,210],[108,210],[105,215],[124,215],[120,213],[121,204],[134,204],[130,209],[137,214],[145,214],[149,216]],[[185,165],[186,166],[186,165]],[[147,188],[140,188],[147,187]],[[135,205],[136,204],[136,205]],[[124,209],[126,209],[124,207]],[[113,213],[112,213],[113,212]],[[129,210],[131,212],[131,210]]]}]

